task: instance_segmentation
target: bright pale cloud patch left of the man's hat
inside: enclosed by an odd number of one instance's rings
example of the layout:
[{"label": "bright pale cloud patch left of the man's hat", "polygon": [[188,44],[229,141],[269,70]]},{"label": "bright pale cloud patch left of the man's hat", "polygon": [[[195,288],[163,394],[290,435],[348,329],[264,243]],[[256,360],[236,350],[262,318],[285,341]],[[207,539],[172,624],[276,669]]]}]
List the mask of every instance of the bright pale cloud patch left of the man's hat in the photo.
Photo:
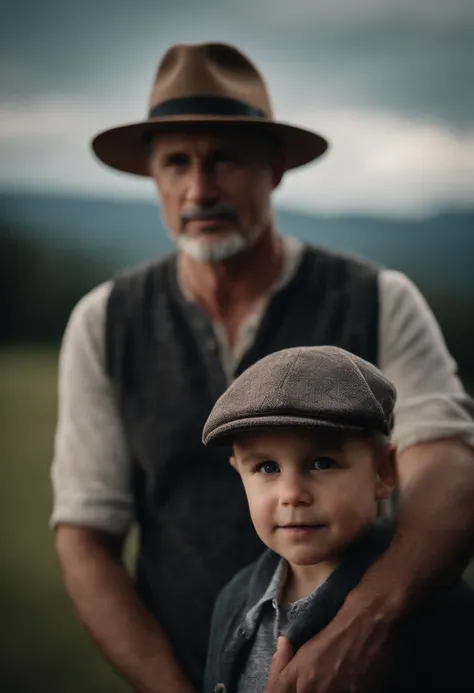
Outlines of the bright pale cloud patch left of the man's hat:
[{"label": "bright pale cloud patch left of the man's hat", "polygon": [[94,133],[127,111],[122,106],[58,98],[1,105],[0,186],[149,196],[149,181],[105,168],[90,149]]}]

